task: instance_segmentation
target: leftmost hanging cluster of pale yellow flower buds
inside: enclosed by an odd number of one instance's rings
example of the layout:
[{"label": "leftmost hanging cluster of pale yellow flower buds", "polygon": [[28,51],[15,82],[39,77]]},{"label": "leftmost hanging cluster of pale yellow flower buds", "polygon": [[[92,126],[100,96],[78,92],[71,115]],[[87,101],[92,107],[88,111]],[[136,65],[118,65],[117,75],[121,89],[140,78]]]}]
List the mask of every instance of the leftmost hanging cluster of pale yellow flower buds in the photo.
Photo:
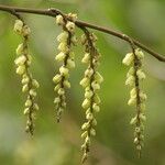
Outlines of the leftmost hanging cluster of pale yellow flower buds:
[{"label": "leftmost hanging cluster of pale yellow flower buds", "polygon": [[32,56],[29,54],[28,41],[31,31],[30,28],[21,20],[16,20],[14,24],[14,32],[23,37],[23,43],[20,44],[15,51],[18,57],[14,63],[16,65],[16,74],[22,78],[22,92],[25,92],[28,96],[23,112],[28,118],[25,131],[33,135],[35,113],[38,110],[38,106],[35,102],[35,90],[38,88],[38,82],[33,79],[32,74],[30,73]]}]

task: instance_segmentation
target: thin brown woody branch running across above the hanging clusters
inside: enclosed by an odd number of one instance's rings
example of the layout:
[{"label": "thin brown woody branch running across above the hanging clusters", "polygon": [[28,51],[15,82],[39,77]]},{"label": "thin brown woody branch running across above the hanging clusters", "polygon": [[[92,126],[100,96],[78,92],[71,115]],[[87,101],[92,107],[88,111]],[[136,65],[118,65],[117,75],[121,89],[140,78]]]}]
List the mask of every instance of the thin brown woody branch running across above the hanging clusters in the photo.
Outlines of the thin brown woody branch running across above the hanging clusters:
[{"label": "thin brown woody branch running across above the hanging clusters", "polygon": [[[55,18],[57,14],[65,15],[61,10],[54,9],[54,8],[51,8],[51,9],[30,9],[30,8],[18,8],[18,7],[9,7],[9,6],[1,6],[0,4],[0,10],[9,12],[10,14],[13,14],[15,16],[18,16],[18,13],[33,13],[33,14],[47,15],[47,16],[53,16],[53,18]],[[76,21],[75,24],[78,28],[89,28],[89,29],[92,29],[92,30],[97,30],[97,31],[113,35],[116,37],[119,37],[119,38],[128,42],[129,44],[130,44],[130,40],[131,40],[134,43],[134,45],[136,45],[138,47],[140,47],[143,51],[147,52],[148,54],[151,54],[152,56],[154,56],[158,61],[165,62],[165,56],[164,55],[161,55],[161,54],[154,52],[148,46],[142,44],[141,42],[125,35],[123,33],[119,33],[119,32],[116,32],[113,30],[110,30],[110,29],[107,29],[107,28],[103,28],[103,26],[98,26],[98,25],[87,23],[87,22],[84,22],[84,21]]]}]

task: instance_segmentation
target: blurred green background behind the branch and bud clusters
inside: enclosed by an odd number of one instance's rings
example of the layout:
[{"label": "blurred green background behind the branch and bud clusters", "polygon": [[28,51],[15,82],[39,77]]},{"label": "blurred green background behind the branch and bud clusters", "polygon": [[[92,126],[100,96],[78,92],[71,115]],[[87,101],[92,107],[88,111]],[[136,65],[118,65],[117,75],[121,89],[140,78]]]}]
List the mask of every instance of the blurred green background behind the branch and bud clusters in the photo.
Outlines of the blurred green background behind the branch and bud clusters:
[{"label": "blurred green background behind the branch and bud clusters", "polygon": [[[58,8],[76,12],[80,20],[100,24],[138,38],[160,53],[165,53],[165,1],[163,0],[0,0],[1,4],[29,8]],[[55,122],[54,85],[58,69],[56,36],[61,29],[53,18],[23,14],[31,26],[32,73],[40,81],[40,112],[33,139],[24,133],[25,117],[20,77],[15,75],[15,48],[21,38],[13,33],[14,18],[0,12],[0,164],[2,165],[79,165],[80,125],[85,112],[80,105],[79,80],[85,66],[81,46],[75,48],[77,68],[72,72],[73,88],[63,122]],[[145,56],[147,74],[143,88],[147,94],[145,147],[138,158],[130,119],[135,110],[127,106],[129,89],[124,86],[128,68],[121,61],[129,45],[113,36],[96,32],[102,54],[100,73],[105,82],[100,91],[101,111],[97,116],[97,136],[92,141],[87,165],[165,165],[165,64]],[[80,31],[77,30],[80,36]]]}]

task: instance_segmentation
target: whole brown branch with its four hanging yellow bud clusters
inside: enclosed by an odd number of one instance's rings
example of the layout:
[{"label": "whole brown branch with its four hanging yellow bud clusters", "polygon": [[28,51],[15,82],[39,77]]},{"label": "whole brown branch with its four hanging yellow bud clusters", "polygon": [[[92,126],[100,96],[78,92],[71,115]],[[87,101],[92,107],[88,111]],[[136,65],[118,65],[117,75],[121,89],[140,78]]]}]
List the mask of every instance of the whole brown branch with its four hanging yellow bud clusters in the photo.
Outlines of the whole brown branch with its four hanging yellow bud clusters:
[{"label": "whole brown branch with its four hanging yellow bud clusters", "polygon": [[[85,89],[85,99],[81,106],[86,111],[86,122],[81,127],[81,138],[84,140],[81,145],[82,163],[89,155],[91,136],[96,135],[96,113],[100,111],[101,101],[98,96],[98,90],[100,89],[100,84],[103,81],[102,76],[98,72],[100,53],[96,46],[97,37],[88,29],[113,35],[130,44],[131,53],[127,54],[122,63],[130,66],[125,81],[125,85],[131,87],[128,105],[135,106],[135,116],[131,119],[130,124],[134,125],[134,144],[139,156],[141,156],[144,142],[144,122],[146,120],[144,114],[146,95],[142,90],[142,81],[145,79],[145,74],[142,69],[144,58],[142,50],[161,62],[165,62],[165,57],[125,34],[78,21],[77,15],[73,13],[64,14],[56,9],[38,10],[7,6],[0,6],[0,10],[7,11],[16,16],[14,31],[22,37],[22,44],[16,48],[18,57],[14,63],[16,65],[16,74],[21,76],[22,91],[26,94],[24,114],[28,117],[28,121],[25,130],[32,135],[34,132],[35,113],[38,110],[38,106],[35,101],[38,82],[33,78],[30,72],[32,56],[29,54],[29,37],[31,30],[20,16],[20,13],[34,13],[56,18],[56,24],[62,28],[62,32],[57,36],[58,54],[55,56],[55,61],[61,63],[61,67],[59,72],[53,77],[53,81],[55,82],[54,90],[56,92],[54,103],[57,121],[61,120],[63,111],[67,108],[66,89],[72,87],[69,82],[70,69],[76,66],[73,46],[82,44],[85,47],[85,55],[81,62],[87,65],[87,69],[85,70],[84,78],[80,80],[80,85]],[[78,42],[75,36],[76,28],[82,31],[81,43]]]}]

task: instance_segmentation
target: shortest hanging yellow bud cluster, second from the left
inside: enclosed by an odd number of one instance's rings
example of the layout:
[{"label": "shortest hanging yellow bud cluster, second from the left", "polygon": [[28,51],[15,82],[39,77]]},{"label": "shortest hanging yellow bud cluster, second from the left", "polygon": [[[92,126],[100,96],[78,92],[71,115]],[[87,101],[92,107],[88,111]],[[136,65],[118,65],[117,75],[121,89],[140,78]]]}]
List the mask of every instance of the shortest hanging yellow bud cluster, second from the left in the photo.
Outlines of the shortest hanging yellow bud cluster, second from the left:
[{"label": "shortest hanging yellow bud cluster, second from the left", "polygon": [[[69,18],[76,19],[76,14],[69,13]],[[66,108],[66,88],[70,88],[69,70],[75,68],[75,54],[72,52],[72,45],[77,43],[75,36],[74,21],[67,21],[63,15],[56,16],[56,23],[62,25],[63,32],[57,36],[59,53],[55,56],[55,61],[62,63],[59,73],[53,77],[55,84],[55,92],[57,97],[54,100],[57,112],[57,122],[61,120],[62,112]]]}]

